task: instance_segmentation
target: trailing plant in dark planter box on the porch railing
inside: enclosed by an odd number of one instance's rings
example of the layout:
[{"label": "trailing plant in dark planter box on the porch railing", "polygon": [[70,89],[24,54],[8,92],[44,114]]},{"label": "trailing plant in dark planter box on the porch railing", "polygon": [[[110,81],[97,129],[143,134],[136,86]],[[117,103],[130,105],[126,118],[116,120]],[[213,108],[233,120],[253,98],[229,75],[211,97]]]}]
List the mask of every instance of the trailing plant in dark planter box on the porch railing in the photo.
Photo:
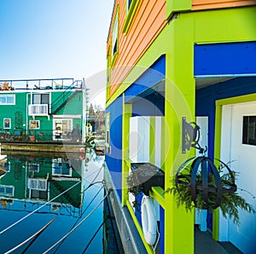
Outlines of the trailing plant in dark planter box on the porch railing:
[{"label": "trailing plant in dark planter box on the porch railing", "polygon": [[133,206],[139,206],[138,196],[144,193],[149,196],[149,191],[154,186],[165,188],[165,174],[158,167],[149,163],[131,164],[131,172],[126,178],[128,192],[135,196]]}]

